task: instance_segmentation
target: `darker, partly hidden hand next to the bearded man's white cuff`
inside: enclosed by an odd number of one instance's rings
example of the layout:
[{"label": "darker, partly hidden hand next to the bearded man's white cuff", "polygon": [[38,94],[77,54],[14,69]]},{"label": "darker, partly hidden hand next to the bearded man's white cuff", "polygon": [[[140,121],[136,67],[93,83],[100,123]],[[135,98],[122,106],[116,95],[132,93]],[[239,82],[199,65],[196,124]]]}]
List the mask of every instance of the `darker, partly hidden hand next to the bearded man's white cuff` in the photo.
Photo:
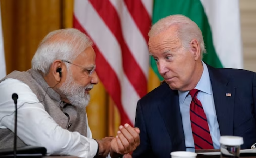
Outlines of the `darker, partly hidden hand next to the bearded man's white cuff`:
[{"label": "darker, partly hidden hand next to the bearded man's white cuff", "polygon": [[96,140],[99,144],[99,153],[97,158],[106,158],[110,152],[110,145],[113,137],[105,137],[101,140]]}]

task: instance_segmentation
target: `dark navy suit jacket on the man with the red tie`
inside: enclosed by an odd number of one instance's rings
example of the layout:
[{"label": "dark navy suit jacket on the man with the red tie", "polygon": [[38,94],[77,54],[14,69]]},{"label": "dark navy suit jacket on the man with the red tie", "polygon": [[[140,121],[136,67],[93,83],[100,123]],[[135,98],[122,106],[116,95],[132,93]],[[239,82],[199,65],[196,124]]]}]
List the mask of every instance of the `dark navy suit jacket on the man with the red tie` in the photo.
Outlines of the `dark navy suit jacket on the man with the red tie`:
[{"label": "dark navy suit jacket on the man with the red tie", "polygon": [[[241,149],[250,148],[256,143],[256,73],[208,70],[221,135],[241,136]],[[140,129],[140,145],[133,158],[171,158],[172,151],[185,151],[178,91],[164,83],[140,99],[135,127]]]}]

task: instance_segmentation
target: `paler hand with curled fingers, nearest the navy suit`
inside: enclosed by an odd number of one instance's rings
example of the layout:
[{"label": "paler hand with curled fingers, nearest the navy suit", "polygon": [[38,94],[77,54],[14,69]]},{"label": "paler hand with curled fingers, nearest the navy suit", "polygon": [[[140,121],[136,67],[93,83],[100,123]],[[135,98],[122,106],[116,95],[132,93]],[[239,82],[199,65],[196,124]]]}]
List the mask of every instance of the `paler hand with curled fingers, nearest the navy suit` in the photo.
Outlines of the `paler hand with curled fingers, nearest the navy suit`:
[{"label": "paler hand with curled fingers, nearest the navy suit", "polygon": [[117,137],[111,141],[111,158],[115,158],[118,154],[128,154],[134,151],[140,143],[139,132],[138,128],[133,128],[131,125],[120,125]]}]

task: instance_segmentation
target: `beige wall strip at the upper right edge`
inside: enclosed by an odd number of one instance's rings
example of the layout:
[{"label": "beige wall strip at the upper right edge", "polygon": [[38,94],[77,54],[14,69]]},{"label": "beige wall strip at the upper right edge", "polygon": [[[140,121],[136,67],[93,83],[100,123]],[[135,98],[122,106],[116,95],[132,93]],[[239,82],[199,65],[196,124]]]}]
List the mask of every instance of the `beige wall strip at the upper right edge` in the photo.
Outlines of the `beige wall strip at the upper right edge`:
[{"label": "beige wall strip at the upper right edge", "polygon": [[243,68],[256,72],[256,0],[240,0]]}]

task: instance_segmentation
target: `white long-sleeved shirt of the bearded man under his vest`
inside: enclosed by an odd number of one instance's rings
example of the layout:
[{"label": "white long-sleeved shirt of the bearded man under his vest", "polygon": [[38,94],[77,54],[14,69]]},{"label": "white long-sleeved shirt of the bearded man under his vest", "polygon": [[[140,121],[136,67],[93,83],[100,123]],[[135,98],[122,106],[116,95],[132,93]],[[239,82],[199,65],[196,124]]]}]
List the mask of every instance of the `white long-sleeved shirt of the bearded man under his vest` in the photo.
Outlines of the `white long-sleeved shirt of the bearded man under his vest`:
[{"label": "white long-sleeved shirt of the bearded man under his vest", "polygon": [[98,145],[92,139],[87,120],[87,137],[63,129],[45,111],[29,86],[17,79],[6,79],[0,83],[0,128],[14,132],[13,93],[19,96],[17,136],[25,144],[43,146],[48,155],[74,155],[82,158],[93,158],[96,155]]}]

